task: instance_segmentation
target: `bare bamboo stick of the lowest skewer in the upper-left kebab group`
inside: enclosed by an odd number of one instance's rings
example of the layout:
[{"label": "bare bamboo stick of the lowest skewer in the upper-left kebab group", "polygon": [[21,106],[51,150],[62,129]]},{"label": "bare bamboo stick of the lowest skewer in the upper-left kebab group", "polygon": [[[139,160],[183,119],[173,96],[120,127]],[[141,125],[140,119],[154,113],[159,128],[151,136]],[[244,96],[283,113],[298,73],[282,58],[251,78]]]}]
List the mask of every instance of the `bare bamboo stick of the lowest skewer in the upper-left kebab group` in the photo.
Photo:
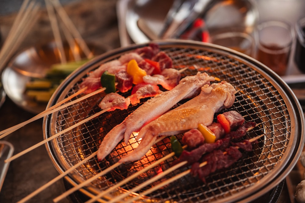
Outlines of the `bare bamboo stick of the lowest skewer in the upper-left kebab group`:
[{"label": "bare bamboo stick of the lowest skewer in the upper-left kebab group", "polygon": [[[52,139],[58,137],[59,135],[62,135],[62,134],[64,134],[64,133],[66,133],[67,131],[70,131],[71,129],[73,129],[73,128],[75,128],[75,127],[81,125],[81,124],[84,124],[84,123],[86,123],[87,121],[90,121],[91,119],[93,119],[93,118],[95,118],[95,117],[97,117],[97,116],[99,116],[99,115],[105,113],[105,112],[108,111],[109,109],[110,109],[110,108],[107,108],[107,109],[101,110],[100,112],[98,112],[98,113],[96,113],[96,114],[93,114],[92,116],[90,116],[90,117],[84,119],[83,121],[80,121],[80,122],[78,122],[78,123],[76,123],[76,124],[70,126],[69,128],[66,128],[66,129],[64,129],[63,131],[60,131],[59,133],[57,133],[57,134],[55,134],[55,135],[52,135],[51,137],[49,137],[49,138],[47,138],[47,139],[45,139],[45,140],[43,140],[43,141],[41,141],[41,142],[38,142],[36,145],[33,145],[33,146],[31,146],[30,148],[23,150],[22,152],[20,152],[20,153],[14,155],[14,156],[12,156],[12,157],[10,157],[9,159],[6,159],[4,162],[5,162],[5,163],[8,163],[8,162],[13,161],[14,159],[16,159],[16,158],[22,156],[23,154],[25,154],[25,153],[27,153],[27,152],[30,152],[31,150],[36,149],[37,147],[39,147],[39,146],[41,146],[41,145],[47,143],[48,141],[50,141],[50,140],[52,140]],[[54,110],[57,110],[57,109],[54,109]]]}]

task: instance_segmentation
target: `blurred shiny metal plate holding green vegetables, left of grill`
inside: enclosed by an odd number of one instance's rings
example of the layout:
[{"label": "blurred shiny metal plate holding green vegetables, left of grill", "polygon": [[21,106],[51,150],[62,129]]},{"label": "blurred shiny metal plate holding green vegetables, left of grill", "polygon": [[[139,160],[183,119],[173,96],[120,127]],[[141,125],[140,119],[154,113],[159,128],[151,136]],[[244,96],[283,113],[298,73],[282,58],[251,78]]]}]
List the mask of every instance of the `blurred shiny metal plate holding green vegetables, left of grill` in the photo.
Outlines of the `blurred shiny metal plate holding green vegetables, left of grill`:
[{"label": "blurred shiny metal plate holding green vegetables, left of grill", "polygon": [[[67,61],[74,61],[73,54],[67,43],[63,44]],[[80,50],[76,45],[74,50]],[[102,54],[103,48],[90,45],[93,54]],[[84,54],[80,52],[81,57]],[[33,114],[45,110],[47,102],[37,102],[26,95],[26,84],[32,78],[44,78],[47,70],[53,64],[60,63],[59,51],[55,42],[50,42],[36,47],[29,47],[17,53],[3,70],[1,79],[7,96],[18,106]]]}]

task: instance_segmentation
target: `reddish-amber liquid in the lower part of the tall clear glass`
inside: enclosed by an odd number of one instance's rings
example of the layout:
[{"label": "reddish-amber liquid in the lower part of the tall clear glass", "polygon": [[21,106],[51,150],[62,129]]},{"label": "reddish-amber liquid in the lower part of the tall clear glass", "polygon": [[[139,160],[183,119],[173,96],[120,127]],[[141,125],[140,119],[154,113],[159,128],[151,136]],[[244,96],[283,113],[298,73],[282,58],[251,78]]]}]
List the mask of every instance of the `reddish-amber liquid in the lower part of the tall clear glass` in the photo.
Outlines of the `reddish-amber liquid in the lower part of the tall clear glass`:
[{"label": "reddish-amber liquid in the lower part of the tall clear glass", "polygon": [[[271,68],[278,75],[285,75],[288,64],[289,51],[280,51],[282,47],[279,47],[276,44],[261,46],[263,48],[258,47],[257,50],[257,60],[262,62],[268,68]],[[268,52],[266,50],[271,51]],[[279,51],[279,53],[273,53],[273,51]]]}]

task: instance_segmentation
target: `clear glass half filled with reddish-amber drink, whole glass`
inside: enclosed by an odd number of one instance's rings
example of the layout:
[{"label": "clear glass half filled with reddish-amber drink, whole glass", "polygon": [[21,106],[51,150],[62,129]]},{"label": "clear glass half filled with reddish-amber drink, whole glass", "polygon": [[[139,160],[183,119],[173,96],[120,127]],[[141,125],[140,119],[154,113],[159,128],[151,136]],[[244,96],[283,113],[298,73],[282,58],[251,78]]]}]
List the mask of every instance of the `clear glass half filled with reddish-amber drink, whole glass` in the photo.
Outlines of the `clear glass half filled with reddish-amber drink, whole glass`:
[{"label": "clear glass half filled with reddish-amber drink, whole glass", "polygon": [[283,21],[267,21],[257,27],[256,58],[278,75],[285,75],[292,46],[292,29]]}]

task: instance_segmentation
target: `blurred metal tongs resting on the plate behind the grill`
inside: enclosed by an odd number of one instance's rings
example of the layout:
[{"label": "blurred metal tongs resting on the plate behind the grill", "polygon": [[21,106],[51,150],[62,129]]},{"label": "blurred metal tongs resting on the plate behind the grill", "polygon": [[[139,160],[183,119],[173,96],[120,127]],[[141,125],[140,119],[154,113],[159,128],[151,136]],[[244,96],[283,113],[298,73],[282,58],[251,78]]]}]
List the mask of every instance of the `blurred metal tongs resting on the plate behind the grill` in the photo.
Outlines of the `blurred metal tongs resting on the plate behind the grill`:
[{"label": "blurred metal tongs resting on the plate behind the grill", "polygon": [[159,33],[160,39],[176,38],[201,15],[211,0],[174,0]]}]

